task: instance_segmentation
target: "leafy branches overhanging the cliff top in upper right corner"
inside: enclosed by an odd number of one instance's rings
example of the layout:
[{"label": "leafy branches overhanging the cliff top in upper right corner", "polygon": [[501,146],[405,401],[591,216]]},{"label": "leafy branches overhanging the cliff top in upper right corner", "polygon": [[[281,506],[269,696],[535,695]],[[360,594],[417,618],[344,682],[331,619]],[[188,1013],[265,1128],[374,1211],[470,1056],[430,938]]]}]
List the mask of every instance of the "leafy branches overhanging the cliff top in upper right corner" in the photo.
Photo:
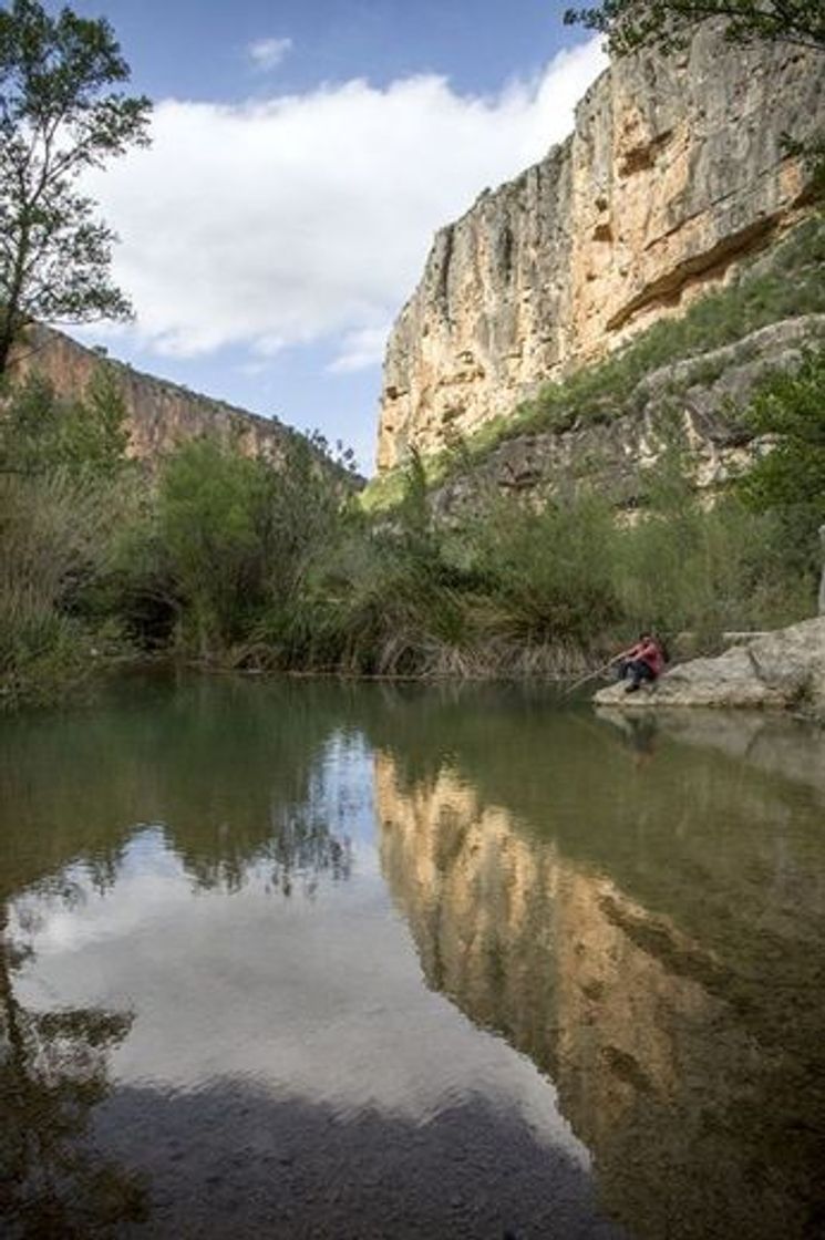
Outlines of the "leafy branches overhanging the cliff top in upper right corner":
[{"label": "leafy branches overhanging the cliff top in upper right corner", "polygon": [[825,52],[823,0],[602,0],[592,9],[568,9],[564,22],[607,35],[610,51],[623,56],[679,46],[708,17],[725,19],[726,37],[734,43],[767,40]]}]

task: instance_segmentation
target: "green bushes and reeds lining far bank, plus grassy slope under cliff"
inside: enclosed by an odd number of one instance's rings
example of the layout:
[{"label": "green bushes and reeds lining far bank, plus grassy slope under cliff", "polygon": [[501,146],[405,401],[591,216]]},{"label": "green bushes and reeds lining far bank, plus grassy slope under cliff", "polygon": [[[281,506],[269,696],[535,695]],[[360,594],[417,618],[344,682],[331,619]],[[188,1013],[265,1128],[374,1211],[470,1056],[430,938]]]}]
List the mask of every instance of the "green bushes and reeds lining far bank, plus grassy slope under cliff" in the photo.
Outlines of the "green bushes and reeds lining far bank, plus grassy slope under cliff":
[{"label": "green bushes and reeds lining far bank, plus grassy slope under cliff", "polygon": [[[816,309],[823,259],[825,227],[813,221],[682,321],[548,388],[512,433],[633,408],[640,382],[674,357],[695,356],[680,374],[692,382],[698,368],[707,382],[708,343]],[[634,486],[644,506],[619,515],[582,479],[541,508],[485,494],[478,444],[459,444],[440,469],[464,471],[474,502],[437,520],[414,454],[377,513],[324,445],[299,436],[277,469],[205,438],[151,472],[127,459],[117,368],[102,362],[82,401],[31,379],[0,403],[0,702],[52,701],[120,656],[563,675],[648,626],[712,649],[726,629],[793,622],[813,614],[819,574],[824,388],[821,347],[764,381],[739,410],[760,455],[710,507],[674,432]]]}]

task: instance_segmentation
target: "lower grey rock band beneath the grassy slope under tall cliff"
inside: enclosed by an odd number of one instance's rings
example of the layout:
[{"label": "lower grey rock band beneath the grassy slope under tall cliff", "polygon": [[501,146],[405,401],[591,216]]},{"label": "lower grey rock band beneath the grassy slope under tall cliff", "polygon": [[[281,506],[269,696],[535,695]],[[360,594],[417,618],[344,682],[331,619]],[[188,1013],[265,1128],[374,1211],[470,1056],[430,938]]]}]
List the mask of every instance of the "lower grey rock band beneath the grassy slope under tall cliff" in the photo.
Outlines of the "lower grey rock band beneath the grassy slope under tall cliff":
[{"label": "lower grey rock band beneath the grassy slope under tall cliff", "polygon": [[734,345],[651,372],[617,409],[579,419],[567,430],[504,439],[473,469],[434,487],[437,516],[452,518],[493,495],[550,500],[579,484],[598,486],[619,507],[644,505],[645,471],[677,439],[692,481],[712,492],[742,472],[758,444],[736,409],[764,376],[790,370],[803,350],[825,343],[825,315],[804,315],[751,332]]}]

